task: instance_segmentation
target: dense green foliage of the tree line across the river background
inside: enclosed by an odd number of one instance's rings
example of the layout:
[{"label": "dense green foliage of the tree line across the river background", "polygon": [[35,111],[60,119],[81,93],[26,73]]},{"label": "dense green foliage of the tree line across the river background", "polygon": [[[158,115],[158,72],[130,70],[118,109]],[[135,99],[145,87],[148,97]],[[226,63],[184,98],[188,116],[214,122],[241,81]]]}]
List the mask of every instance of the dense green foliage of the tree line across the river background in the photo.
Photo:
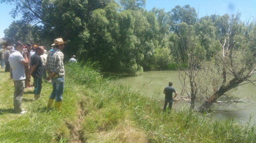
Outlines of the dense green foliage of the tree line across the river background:
[{"label": "dense green foliage of the tree line across the river background", "polygon": [[[10,44],[22,40],[49,48],[53,39],[62,37],[69,41],[64,51],[67,59],[75,54],[80,60],[99,62],[102,71],[130,75],[187,63],[192,35],[198,59],[213,58],[221,51],[218,39],[223,43],[232,20],[227,14],[198,19],[189,5],[169,12],[147,11],[145,0],[0,1],[15,4],[12,16],[22,16],[5,30]],[[255,37],[254,23],[237,22],[237,35],[248,37],[239,44]],[[255,46],[251,48],[255,51]]]}]

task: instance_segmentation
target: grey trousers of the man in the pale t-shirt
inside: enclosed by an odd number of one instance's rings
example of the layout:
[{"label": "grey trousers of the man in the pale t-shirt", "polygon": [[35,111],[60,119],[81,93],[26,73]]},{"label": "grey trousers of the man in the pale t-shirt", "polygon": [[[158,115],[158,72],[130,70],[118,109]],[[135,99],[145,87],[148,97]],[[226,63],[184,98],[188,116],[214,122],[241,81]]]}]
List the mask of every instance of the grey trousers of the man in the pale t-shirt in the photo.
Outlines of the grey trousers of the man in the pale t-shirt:
[{"label": "grey trousers of the man in the pale t-shirt", "polygon": [[21,100],[25,88],[24,80],[13,81],[14,94],[13,94],[13,106],[15,113],[21,113]]}]

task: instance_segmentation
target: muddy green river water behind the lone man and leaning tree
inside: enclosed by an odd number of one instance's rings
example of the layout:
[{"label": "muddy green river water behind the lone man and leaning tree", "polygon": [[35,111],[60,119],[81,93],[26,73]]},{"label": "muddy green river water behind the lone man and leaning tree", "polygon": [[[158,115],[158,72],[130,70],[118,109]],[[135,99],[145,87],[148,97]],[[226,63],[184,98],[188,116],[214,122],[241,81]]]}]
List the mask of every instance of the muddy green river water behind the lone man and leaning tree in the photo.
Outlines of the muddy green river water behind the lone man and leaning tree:
[{"label": "muddy green river water behind the lone man and leaning tree", "polygon": [[[256,76],[253,75],[251,79],[256,79]],[[178,78],[178,71],[145,71],[143,75],[122,78],[118,80],[118,82],[130,85],[134,90],[140,91],[143,96],[160,100],[164,99],[163,90],[165,86],[168,86],[169,81],[173,82],[173,87],[179,93],[181,91],[181,83]],[[239,99],[244,97],[251,98],[253,95],[250,101],[256,103],[256,86],[251,83],[239,86],[238,89],[234,91],[234,94],[235,96],[239,97]],[[248,101],[248,99],[243,101]],[[189,104],[185,101],[179,101],[174,102],[172,108],[173,110],[178,111],[184,108],[188,108],[188,105]],[[250,119],[250,116],[256,113],[256,104],[238,103],[235,106],[228,107],[214,104],[211,106],[211,109],[214,111],[207,115],[207,118],[235,118],[237,121],[247,122]],[[251,120],[252,122],[256,122],[256,114],[252,117]]]}]

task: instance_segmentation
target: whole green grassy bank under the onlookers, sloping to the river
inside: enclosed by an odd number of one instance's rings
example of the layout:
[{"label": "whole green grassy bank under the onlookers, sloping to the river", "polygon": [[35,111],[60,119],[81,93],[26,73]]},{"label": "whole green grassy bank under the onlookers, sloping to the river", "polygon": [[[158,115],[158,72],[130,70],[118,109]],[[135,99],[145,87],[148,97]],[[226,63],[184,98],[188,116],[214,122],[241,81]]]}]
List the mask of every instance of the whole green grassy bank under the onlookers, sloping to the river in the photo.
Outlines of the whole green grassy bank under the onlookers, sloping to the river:
[{"label": "whole green grassy bank under the onlookers, sloping to the river", "polygon": [[0,142],[256,142],[250,124],[211,121],[187,111],[163,113],[163,103],[110,84],[92,64],[66,65],[62,111],[46,110],[51,85],[33,100],[26,89],[13,114],[13,83],[0,70]]}]

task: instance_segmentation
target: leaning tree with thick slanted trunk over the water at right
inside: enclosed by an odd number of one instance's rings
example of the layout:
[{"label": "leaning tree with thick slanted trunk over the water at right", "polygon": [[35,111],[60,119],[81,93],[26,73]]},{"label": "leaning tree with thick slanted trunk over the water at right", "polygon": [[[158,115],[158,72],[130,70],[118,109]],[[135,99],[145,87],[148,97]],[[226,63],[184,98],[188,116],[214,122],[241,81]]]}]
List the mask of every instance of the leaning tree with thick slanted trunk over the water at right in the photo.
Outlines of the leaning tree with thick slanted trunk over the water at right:
[{"label": "leaning tree with thick slanted trunk over the water at right", "polygon": [[217,55],[218,58],[216,58],[219,65],[218,72],[222,75],[222,82],[215,85],[214,93],[207,98],[196,111],[205,111],[227,91],[241,85],[244,81],[247,83],[255,81],[249,79],[250,76],[256,72],[254,71],[256,70],[254,53],[250,48],[250,44],[240,45],[246,37],[245,33],[241,33],[240,31],[241,25],[239,22],[240,14],[232,15],[231,18],[228,19],[228,27],[225,30],[226,33],[224,33],[224,42],[221,43],[219,40],[222,46],[222,52],[220,52]]}]

